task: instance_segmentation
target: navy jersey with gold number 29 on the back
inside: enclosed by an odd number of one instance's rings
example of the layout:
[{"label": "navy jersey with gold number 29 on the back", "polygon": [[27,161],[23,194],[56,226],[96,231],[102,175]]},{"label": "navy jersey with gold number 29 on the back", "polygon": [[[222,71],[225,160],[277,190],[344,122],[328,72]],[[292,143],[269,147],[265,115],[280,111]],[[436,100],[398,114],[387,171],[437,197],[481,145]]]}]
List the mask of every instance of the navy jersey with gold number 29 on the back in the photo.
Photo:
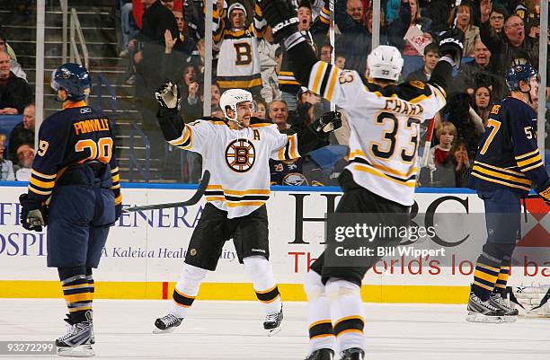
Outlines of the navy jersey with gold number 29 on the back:
[{"label": "navy jersey with gold number 29 on the back", "polygon": [[109,164],[111,190],[120,204],[120,176],[114,155],[113,124],[84,101],[68,102],[64,110],[44,120],[39,131],[38,151],[32,163],[29,197],[40,202],[52,194],[56,182],[71,165],[84,162]]}]

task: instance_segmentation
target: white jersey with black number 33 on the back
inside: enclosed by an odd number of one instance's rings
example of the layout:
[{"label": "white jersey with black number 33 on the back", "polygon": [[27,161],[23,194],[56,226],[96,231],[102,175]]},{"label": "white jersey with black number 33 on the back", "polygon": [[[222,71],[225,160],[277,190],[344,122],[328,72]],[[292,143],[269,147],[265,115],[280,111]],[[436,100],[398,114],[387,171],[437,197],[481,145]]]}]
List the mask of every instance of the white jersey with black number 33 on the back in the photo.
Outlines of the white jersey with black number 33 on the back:
[{"label": "white jersey with black number 33 on the back", "polygon": [[419,124],[445,105],[436,85],[413,81],[381,88],[359,73],[323,61],[313,66],[308,88],[346,111],[350,162],[359,186],[404,206],[413,204]]}]

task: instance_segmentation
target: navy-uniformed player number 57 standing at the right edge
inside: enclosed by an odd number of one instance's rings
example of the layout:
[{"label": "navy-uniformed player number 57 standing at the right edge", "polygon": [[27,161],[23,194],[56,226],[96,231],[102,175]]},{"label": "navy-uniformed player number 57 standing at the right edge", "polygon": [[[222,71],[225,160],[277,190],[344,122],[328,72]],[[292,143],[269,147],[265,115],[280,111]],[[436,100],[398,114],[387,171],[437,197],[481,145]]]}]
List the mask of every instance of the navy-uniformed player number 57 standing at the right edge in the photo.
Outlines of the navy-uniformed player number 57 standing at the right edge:
[{"label": "navy-uniformed player number 57 standing at the right edge", "polygon": [[468,187],[485,206],[487,241],[475,266],[466,320],[511,322],[518,312],[504,301],[510,257],[519,238],[520,199],[530,189],[550,202],[550,180],[537,148],[537,70],[512,66],[510,97],[492,107],[475,156]]}]

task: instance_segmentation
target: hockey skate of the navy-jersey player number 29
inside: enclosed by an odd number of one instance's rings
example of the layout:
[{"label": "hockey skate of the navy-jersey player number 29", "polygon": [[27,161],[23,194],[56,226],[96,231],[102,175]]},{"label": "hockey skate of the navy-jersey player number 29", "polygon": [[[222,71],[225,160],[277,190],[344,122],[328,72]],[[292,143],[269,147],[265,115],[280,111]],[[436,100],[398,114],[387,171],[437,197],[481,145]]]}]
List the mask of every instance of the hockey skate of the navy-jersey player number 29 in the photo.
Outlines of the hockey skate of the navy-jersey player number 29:
[{"label": "hockey skate of the navy-jersey player number 29", "polygon": [[77,322],[67,327],[67,333],[56,339],[58,356],[94,356],[92,321]]}]

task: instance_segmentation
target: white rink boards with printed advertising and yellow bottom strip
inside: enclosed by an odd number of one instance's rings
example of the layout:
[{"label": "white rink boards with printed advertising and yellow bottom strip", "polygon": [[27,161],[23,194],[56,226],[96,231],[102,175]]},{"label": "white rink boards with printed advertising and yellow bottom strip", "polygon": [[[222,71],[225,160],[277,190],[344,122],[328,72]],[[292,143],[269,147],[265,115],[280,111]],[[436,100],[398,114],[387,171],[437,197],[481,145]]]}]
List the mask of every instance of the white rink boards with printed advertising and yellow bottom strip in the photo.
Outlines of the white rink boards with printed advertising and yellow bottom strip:
[{"label": "white rink boards with printed advertising and yellow bottom strip", "polygon": [[[273,187],[268,202],[271,263],[283,300],[304,301],[302,277],[307,265],[324,250],[324,216],[337,205],[338,188]],[[60,297],[57,271],[46,268],[46,233],[25,231],[19,224],[18,197],[26,191],[15,182],[0,187],[0,297]],[[158,204],[190,198],[194,187],[124,184],[124,206]],[[483,202],[467,189],[419,189],[418,211],[479,214]],[[100,268],[95,271],[96,297],[109,299],[170,298],[174,281],[204,200],[197,206],[123,215],[111,228]],[[529,206],[528,206],[529,208]],[[532,216],[522,233],[549,241],[550,216]],[[542,231],[541,231],[542,226]],[[484,240],[484,239],[483,239]],[[537,242],[537,241],[536,241]],[[531,241],[531,245],[532,245]],[[481,250],[483,241],[472,246]],[[550,244],[546,244],[550,246]],[[363,297],[379,303],[464,303],[475,259],[448,266],[408,261],[377,264],[364,279]],[[526,262],[512,270],[510,283],[550,283],[548,262]],[[210,300],[253,300],[252,285],[228,241],[217,271],[208,274],[199,297]]]}]

